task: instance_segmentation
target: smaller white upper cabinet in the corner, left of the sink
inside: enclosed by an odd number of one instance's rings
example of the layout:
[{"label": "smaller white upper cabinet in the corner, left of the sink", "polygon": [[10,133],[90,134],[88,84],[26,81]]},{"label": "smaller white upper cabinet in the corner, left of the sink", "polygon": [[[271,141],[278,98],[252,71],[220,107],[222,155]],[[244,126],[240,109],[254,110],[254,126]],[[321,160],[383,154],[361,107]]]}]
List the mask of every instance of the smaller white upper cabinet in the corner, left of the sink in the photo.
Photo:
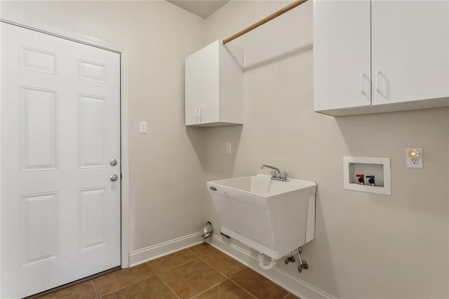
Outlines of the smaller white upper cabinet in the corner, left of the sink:
[{"label": "smaller white upper cabinet in the corner, left of the sink", "polygon": [[241,48],[215,41],[186,58],[185,124],[243,124]]}]

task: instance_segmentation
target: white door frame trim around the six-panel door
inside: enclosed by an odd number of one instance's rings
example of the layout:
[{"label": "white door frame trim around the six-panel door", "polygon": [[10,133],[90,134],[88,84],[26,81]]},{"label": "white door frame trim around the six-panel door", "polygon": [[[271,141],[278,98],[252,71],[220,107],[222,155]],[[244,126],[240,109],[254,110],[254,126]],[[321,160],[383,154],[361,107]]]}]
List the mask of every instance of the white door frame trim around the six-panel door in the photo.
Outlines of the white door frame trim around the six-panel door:
[{"label": "white door frame trim around the six-panel door", "polygon": [[[68,39],[77,43],[102,48],[120,54],[120,152],[121,152],[121,267],[129,267],[129,61],[128,51],[125,48],[109,44],[106,41],[95,39],[91,36],[70,32],[58,27],[53,27],[42,22],[36,22],[28,18],[20,17],[12,13],[1,11],[0,22],[16,25],[37,32],[50,34]],[[1,136],[0,136],[1,144]],[[1,147],[0,147],[1,148]],[[1,167],[1,159],[0,159]],[[0,172],[1,175],[1,172]],[[1,181],[1,177],[0,177]],[[1,185],[0,185],[1,187]],[[1,190],[0,190],[1,191]],[[0,193],[1,194],[1,193]],[[1,204],[1,201],[0,201]],[[0,206],[1,208],[1,206]],[[0,214],[1,217],[1,214]],[[1,229],[1,219],[0,219]],[[1,230],[0,230],[1,231]],[[1,242],[1,239],[0,239]],[[0,244],[1,245],[1,244]],[[1,256],[1,246],[0,246]],[[0,258],[1,267],[1,258]],[[1,274],[0,274],[1,275]],[[1,288],[1,277],[0,277]]]}]

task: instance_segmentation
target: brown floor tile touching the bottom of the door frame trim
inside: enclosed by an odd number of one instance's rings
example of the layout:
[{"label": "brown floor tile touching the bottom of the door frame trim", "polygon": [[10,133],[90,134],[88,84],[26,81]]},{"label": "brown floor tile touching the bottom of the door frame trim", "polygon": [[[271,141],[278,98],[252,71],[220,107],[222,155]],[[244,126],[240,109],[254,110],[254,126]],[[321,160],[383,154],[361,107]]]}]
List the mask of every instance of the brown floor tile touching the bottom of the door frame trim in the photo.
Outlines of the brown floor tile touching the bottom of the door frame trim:
[{"label": "brown floor tile touching the bottom of the door frame trim", "polygon": [[147,263],[106,274],[93,280],[100,295],[105,295],[123,286],[128,286],[141,279],[154,275],[152,267]]}]

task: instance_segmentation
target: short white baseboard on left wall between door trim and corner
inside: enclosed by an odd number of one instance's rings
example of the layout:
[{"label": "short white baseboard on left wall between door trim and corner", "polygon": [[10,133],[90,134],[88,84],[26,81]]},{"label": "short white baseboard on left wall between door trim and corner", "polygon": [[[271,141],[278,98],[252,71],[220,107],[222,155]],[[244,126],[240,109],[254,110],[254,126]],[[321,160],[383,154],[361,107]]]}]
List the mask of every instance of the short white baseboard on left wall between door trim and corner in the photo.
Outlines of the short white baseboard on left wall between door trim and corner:
[{"label": "short white baseboard on left wall between door trim and corner", "polygon": [[148,262],[149,260],[160,258],[163,255],[168,255],[170,253],[180,251],[184,248],[188,248],[202,242],[203,238],[201,238],[201,232],[195,232],[194,234],[187,234],[187,236],[184,237],[130,252],[130,267],[140,265],[142,263]]}]

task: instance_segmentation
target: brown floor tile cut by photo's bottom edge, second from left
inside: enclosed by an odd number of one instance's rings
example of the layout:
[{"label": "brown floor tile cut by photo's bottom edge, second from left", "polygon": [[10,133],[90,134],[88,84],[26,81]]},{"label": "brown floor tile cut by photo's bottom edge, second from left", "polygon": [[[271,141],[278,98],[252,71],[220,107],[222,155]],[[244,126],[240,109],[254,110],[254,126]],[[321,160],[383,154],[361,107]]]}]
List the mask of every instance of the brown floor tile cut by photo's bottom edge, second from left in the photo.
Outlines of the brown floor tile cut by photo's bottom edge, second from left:
[{"label": "brown floor tile cut by photo's bottom edge, second from left", "polygon": [[102,296],[105,299],[128,299],[128,298],[164,298],[176,299],[177,296],[173,291],[168,288],[168,286],[156,276],[149,277],[147,279],[143,279],[141,281],[136,282],[135,284],[131,284],[130,286],[126,286],[125,288],[121,288],[118,291],[114,291],[107,295]]}]

